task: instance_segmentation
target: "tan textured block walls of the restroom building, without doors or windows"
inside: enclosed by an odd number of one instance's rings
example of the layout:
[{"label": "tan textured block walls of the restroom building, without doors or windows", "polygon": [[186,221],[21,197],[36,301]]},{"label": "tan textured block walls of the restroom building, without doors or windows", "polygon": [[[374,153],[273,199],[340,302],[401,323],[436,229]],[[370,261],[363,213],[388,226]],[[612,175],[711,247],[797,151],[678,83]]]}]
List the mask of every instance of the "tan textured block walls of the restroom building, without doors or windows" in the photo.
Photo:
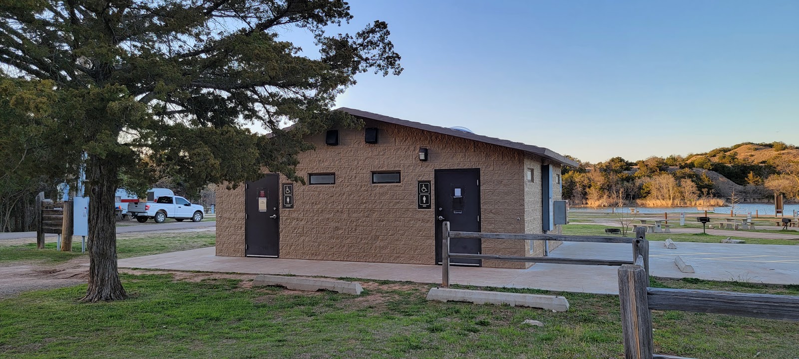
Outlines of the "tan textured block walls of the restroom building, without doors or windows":
[{"label": "tan textured block walls of the restroom building, without doors or windows", "polygon": [[[429,180],[435,188],[434,171],[444,168],[480,168],[483,232],[540,233],[540,215],[535,232],[534,212],[525,209],[533,204],[540,211],[540,183],[538,203],[530,196],[535,186],[524,183],[524,164],[534,156],[396,124],[367,120],[366,127],[380,128],[378,144],[364,143],[363,129],[340,130],[338,146],[324,144],[324,134],[308,137],[316,151],[300,154],[298,175],[307,181],[309,173],[334,172],[336,184],[295,183],[295,208],[280,210],[280,258],[435,264],[436,212],[416,208],[416,186]],[[419,161],[420,147],[428,148],[427,162]],[[401,183],[372,184],[373,171],[400,171]],[[217,208],[217,255],[244,255],[243,187],[220,188]],[[526,241],[485,240],[483,253],[530,251]]]}]

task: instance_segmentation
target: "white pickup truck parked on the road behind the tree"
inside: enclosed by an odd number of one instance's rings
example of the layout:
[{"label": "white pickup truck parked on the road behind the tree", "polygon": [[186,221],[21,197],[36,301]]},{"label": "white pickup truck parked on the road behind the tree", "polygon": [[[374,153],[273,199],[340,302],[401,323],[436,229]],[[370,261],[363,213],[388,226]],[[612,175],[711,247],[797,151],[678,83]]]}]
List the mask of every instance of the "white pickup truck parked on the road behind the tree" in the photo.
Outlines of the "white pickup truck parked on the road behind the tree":
[{"label": "white pickup truck parked on the road behind the tree", "polygon": [[136,218],[139,223],[153,219],[155,223],[163,223],[168,218],[178,222],[191,219],[200,222],[205,213],[205,207],[189,203],[179,195],[161,195],[155,202],[128,203],[128,213]]}]

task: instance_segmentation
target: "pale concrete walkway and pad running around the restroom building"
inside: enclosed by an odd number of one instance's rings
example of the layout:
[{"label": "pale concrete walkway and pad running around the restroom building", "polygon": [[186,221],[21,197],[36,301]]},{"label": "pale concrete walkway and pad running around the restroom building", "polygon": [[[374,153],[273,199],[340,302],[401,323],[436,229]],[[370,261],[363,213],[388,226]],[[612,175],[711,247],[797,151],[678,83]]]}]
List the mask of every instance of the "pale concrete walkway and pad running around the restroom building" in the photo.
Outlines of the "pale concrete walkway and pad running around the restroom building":
[{"label": "pale concrete walkway and pad running around the restroom building", "polygon": [[[692,277],[771,284],[799,283],[799,246],[794,248],[754,244],[678,243],[678,250],[666,250],[662,247],[662,242],[651,242],[650,246],[650,271],[656,277]],[[744,249],[747,253],[740,253]],[[756,251],[758,254],[751,254],[751,251]],[[217,257],[214,253],[215,249],[209,247],[126,258],[119,261],[119,266],[122,268],[202,270],[248,274],[318,275],[332,278],[350,277],[423,283],[441,282],[440,266]],[[686,262],[694,266],[697,273],[680,272],[674,265],[675,254],[682,255]],[[630,259],[632,248],[629,244],[563,243],[552,255],[563,258]],[[746,258],[753,255],[755,257]],[[539,263],[527,270],[453,266],[450,273],[452,283],[463,285],[618,294],[617,269],[618,267],[614,266]]]}]

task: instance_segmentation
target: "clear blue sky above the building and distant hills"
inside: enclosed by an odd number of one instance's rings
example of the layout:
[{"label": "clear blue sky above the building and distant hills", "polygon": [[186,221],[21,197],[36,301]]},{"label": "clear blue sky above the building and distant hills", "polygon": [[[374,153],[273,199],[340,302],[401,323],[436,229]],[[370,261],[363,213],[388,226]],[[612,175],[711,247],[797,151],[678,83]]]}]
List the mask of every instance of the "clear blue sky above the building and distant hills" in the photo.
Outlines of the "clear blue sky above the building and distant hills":
[{"label": "clear blue sky above the building and distant hills", "polygon": [[388,22],[405,70],[359,75],[340,106],[590,162],[799,144],[795,0],[350,5],[342,30]]}]

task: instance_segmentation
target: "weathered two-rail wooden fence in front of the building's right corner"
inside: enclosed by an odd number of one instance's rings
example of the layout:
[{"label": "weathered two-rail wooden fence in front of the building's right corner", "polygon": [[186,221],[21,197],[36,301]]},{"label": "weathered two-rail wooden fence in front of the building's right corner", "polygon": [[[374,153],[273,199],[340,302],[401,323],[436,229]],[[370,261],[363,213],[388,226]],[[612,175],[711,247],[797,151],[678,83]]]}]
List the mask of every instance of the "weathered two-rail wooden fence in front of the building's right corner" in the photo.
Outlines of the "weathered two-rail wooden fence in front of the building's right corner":
[{"label": "weathered two-rail wooden fence in front of the building's right corner", "polygon": [[[516,233],[481,233],[481,232],[462,232],[450,231],[450,223],[443,223],[441,268],[441,286],[447,287],[450,282],[450,258],[467,259],[488,259],[511,262],[535,262],[535,263],[557,263],[557,264],[577,264],[582,266],[622,266],[625,264],[638,263],[646,268],[649,273],[649,241],[646,240],[646,228],[638,227],[635,231],[635,238],[630,237],[596,237],[580,235],[527,235]],[[532,241],[562,241],[562,242],[592,242],[592,243],[630,243],[633,247],[632,260],[609,260],[609,259],[583,259],[583,258],[555,258],[555,257],[522,257],[512,255],[497,254],[468,254],[451,253],[450,239],[452,238],[471,238],[471,239],[522,239]]]}]

